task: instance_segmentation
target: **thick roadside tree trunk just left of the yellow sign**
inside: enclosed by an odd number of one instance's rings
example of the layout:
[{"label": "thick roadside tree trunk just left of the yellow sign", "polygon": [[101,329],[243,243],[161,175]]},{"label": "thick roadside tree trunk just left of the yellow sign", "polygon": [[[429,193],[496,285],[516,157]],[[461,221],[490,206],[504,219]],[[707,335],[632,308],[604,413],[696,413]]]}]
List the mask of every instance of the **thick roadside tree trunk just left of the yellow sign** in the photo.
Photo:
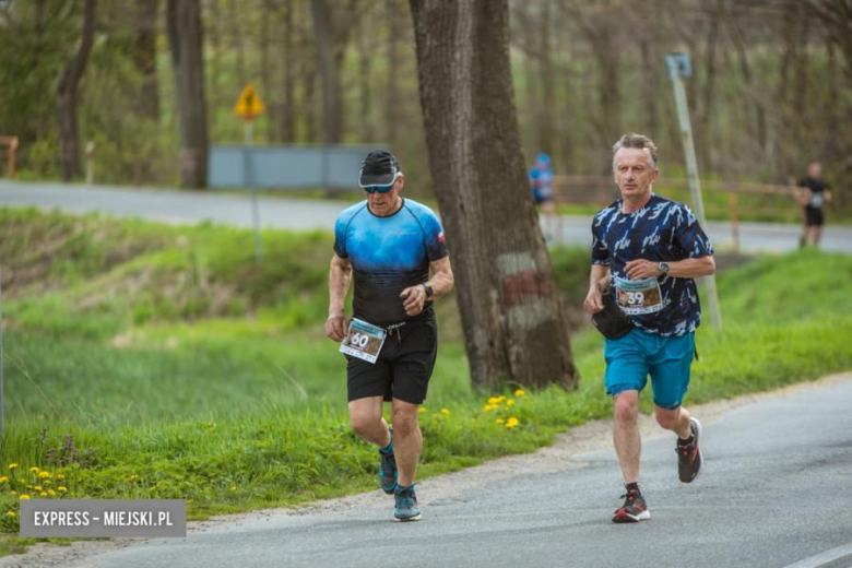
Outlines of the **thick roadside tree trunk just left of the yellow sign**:
[{"label": "thick roadside tree trunk just left of the yellow sign", "polygon": [[180,129],[180,180],[184,187],[203,189],[209,143],[199,0],[168,0],[166,24]]}]

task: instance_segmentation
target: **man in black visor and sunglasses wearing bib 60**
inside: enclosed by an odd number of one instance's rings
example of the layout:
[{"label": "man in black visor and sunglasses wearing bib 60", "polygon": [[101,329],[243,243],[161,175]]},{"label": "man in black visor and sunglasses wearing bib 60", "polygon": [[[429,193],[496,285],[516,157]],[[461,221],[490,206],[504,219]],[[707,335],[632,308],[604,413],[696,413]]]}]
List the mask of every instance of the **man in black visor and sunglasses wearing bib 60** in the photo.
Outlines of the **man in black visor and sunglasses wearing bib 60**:
[{"label": "man in black visor and sunglasses wearing bib 60", "polygon": [[[379,447],[379,482],[395,496],[394,519],[416,521],[414,474],[423,446],[417,411],[438,346],[431,306],[452,289],[452,269],[438,217],[400,197],[405,175],[393,154],[367,154],[358,184],[366,200],[343,211],[334,227],[326,334],[343,342],[352,427]],[[384,401],[392,401],[393,429],[382,417]]]}]

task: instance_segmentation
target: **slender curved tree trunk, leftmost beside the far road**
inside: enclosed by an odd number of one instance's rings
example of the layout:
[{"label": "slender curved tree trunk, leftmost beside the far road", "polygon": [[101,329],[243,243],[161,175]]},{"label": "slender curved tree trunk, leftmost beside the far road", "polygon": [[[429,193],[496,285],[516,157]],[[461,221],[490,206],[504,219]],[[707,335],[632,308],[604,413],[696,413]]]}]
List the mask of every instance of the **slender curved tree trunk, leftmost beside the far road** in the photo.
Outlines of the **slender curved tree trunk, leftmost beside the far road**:
[{"label": "slender curved tree trunk, leftmost beside the far road", "polygon": [[62,166],[63,181],[71,181],[83,173],[80,165],[80,132],[76,122],[78,87],[80,79],[86,70],[94,37],[95,0],[86,0],[83,9],[80,49],[66,68],[56,88],[56,103],[59,110],[59,159]]}]

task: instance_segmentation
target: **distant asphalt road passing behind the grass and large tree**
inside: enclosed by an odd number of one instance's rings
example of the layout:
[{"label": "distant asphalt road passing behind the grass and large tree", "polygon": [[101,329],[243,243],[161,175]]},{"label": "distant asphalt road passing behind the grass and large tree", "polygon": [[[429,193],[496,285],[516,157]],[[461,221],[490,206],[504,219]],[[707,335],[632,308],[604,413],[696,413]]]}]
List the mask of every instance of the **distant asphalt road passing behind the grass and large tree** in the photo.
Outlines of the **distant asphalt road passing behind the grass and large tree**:
[{"label": "distant asphalt road passing behind the grass and large tree", "polygon": [[[263,227],[298,230],[331,230],[346,202],[304,199],[260,198],[260,224]],[[0,206],[35,205],[44,210],[60,209],[73,213],[99,211],[118,216],[140,216],[174,224],[202,221],[251,227],[250,199],[246,196],[215,191],[190,192],[145,190],[105,186],[67,186],[0,180]],[[591,217],[563,217],[561,238],[567,245],[591,246]],[[713,244],[727,247],[732,241],[729,223],[708,223]],[[739,241],[744,252],[783,252],[798,246],[798,225],[741,223]],[[852,255],[852,227],[828,226],[823,237],[824,250]]]}]

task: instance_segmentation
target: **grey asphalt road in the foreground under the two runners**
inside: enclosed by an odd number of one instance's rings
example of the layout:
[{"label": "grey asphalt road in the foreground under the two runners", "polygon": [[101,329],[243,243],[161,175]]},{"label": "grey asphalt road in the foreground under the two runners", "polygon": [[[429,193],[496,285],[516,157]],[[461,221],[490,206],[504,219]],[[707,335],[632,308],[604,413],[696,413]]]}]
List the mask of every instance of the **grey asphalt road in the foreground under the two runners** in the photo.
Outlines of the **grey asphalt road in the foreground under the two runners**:
[{"label": "grey asphalt road in the foreground under the two runners", "polygon": [[850,375],[729,410],[705,425],[705,471],[688,486],[677,481],[673,438],[648,441],[652,518],[639,524],[610,522],[620,487],[606,450],[561,471],[474,483],[454,498],[430,498],[426,481],[417,523],[394,523],[387,498],[258,517],[73,566],[849,567],[851,410]]}]

